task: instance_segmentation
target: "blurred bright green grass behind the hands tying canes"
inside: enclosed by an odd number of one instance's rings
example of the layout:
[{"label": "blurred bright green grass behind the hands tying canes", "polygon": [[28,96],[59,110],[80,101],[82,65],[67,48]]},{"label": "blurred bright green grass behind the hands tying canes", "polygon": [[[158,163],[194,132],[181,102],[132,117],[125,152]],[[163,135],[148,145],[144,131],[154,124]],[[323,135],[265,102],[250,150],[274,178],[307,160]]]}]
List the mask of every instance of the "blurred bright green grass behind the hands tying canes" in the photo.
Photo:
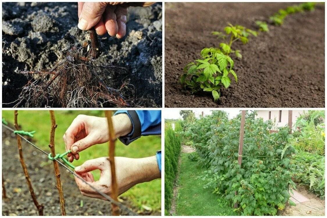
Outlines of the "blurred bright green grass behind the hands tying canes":
[{"label": "blurred bright green grass behind the hands tying canes", "polygon": [[[78,114],[86,114],[93,116],[104,117],[103,111],[97,110],[56,110],[56,128],[55,145],[56,152],[65,152],[65,144],[62,140],[66,129],[74,118]],[[2,118],[5,118],[7,122],[13,124],[14,111],[3,110]],[[43,150],[49,152],[49,134],[50,134],[50,116],[47,110],[19,110],[18,111],[18,124],[22,130],[32,131],[36,130],[33,141],[37,146]],[[160,136],[142,136],[138,140],[130,143],[128,146],[121,143],[119,140],[116,141],[115,155],[128,158],[143,158],[155,155],[157,150],[161,149],[161,137]],[[79,160],[74,160],[73,165],[81,165],[88,159],[95,159],[99,157],[108,156],[108,143],[94,145],[82,152]],[[50,164],[51,162],[47,159],[41,164]],[[93,172],[95,179],[97,180],[100,176],[99,171]],[[156,179],[151,182],[141,183],[131,188],[126,193],[122,194],[130,199],[133,204],[143,210],[142,205],[151,207],[153,210],[161,210],[161,180]]]}]

